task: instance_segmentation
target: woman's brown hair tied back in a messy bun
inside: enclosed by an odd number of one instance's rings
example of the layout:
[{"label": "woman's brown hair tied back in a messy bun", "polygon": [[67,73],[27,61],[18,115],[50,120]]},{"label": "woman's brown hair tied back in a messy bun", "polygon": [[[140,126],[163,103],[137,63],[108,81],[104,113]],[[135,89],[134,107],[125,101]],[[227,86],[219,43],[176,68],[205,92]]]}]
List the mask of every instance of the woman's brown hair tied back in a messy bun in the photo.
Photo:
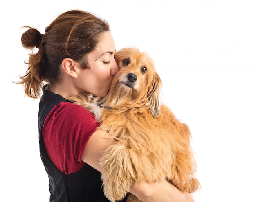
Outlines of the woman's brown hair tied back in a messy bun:
[{"label": "woman's brown hair tied back in a messy bun", "polygon": [[94,50],[105,31],[110,31],[105,20],[91,13],[72,10],[59,15],[45,34],[30,26],[21,36],[22,46],[37,53],[30,53],[25,75],[18,84],[24,84],[25,94],[31,98],[40,97],[44,82],[61,81],[60,65],[63,59],[71,58],[87,68],[85,55]]}]

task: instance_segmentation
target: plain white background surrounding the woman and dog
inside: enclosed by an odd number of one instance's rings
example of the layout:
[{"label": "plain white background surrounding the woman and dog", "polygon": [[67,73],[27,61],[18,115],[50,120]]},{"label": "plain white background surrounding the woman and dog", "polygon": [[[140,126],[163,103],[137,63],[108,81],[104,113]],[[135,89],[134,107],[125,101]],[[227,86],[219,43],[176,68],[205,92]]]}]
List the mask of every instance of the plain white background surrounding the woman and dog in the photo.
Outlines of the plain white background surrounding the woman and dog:
[{"label": "plain white background surrounding the woman and dog", "polygon": [[38,149],[38,100],[11,80],[25,73],[22,26],[44,33],[82,9],[108,20],[117,50],[148,53],[163,101],[191,128],[202,190],[196,202],[256,202],[256,1],[14,0],[0,8],[0,201],[49,201]]}]

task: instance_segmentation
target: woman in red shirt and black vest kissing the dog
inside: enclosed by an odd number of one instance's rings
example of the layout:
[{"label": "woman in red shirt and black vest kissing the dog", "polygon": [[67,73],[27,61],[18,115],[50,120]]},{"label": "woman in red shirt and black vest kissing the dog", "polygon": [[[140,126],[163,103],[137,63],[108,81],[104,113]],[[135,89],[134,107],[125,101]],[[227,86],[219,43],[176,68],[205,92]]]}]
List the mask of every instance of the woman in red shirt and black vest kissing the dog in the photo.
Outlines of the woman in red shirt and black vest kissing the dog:
[{"label": "woman in red shirt and black vest kissing the dog", "polygon": [[[49,176],[51,202],[108,201],[101,189],[100,152],[114,140],[96,130],[99,123],[85,108],[65,98],[79,93],[105,97],[119,71],[115,43],[106,21],[85,11],[59,15],[41,34],[29,28],[21,37],[31,53],[20,77],[25,94],[39,98],[40,155]],[[41,97],[41,93],[43,95]],[[166,182],[141,182],[130,192],[146,201],[193,201]]]}]

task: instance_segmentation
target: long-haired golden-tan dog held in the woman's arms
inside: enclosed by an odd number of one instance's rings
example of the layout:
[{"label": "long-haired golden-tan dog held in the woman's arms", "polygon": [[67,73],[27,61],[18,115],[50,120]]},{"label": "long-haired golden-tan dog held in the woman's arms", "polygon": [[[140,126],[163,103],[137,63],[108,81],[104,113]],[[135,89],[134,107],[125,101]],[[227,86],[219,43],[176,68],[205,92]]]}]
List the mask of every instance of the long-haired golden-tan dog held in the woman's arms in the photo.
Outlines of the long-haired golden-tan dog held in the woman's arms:
[{"label": "long-haired golden-tan dog held in the woman's arms", "polygon": [[[162,82],[153,60],[136,48],[115,53],[120,71],[115,76],[99,114],[87,97],[71,99],[90,108],[101,129],[115,138],[103,153],[103,190],[114,202],[125,197],[133,182],[168,180],[180,191],[193,193],[200,184],[193,173],[193,150],[189,127],[161,103]],[[138,202],[128,195],[127,201]]]}]

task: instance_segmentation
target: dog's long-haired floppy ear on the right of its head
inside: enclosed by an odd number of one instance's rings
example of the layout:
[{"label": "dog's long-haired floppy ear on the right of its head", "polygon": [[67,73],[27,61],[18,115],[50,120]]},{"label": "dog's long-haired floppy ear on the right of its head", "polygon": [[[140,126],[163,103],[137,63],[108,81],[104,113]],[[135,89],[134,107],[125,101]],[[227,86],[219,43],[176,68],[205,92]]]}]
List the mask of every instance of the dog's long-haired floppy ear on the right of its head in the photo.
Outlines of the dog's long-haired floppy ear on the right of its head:
[{"label": "dog's long-haired floppy ear on the right of its head", "polygon": [[161,114],[161,89],[162,81],[157,73],[153,78],[151,88],[148,90],[149,107],[152,116],[158,117]]}]

